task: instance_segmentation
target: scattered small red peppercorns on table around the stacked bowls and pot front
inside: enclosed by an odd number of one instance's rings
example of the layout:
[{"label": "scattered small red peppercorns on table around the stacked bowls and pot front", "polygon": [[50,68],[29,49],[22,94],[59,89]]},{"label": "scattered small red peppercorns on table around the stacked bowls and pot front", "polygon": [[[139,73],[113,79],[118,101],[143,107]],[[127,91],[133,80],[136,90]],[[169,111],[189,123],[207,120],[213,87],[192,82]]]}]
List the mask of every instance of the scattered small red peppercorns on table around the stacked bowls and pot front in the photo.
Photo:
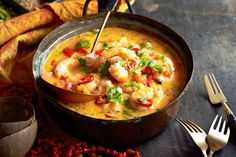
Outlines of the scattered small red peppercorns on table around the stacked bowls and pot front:
[{"label": "scattered small red peppercorns on table around the stacked bowls and pot front", "polygon": [[[32,97],[32,94],[22,87],[4,84],[0,82],[0,97],[3,96],[23,96]],[[100,145],[89,145],[85,141],[70,141],[58,137],[48,138],[51,134],[51,128],[47,123],[43,113],[37,104],[34,104],[36,117],[38,120],[38,134],[35,143],[27,156],[50,156],[50,157],[141,157],[140,152],[133,149],[118,151],[109,149]]]}]

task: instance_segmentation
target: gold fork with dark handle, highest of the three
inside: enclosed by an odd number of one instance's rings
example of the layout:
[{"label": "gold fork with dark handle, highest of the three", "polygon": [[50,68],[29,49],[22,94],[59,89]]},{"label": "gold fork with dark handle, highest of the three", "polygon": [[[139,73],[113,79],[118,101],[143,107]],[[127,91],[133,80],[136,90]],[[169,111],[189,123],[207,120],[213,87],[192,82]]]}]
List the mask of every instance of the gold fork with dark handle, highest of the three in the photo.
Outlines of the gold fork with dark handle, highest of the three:
[{"label": "gold fork with dark handle, highest of the three", "polygon": [[207,88],[208,96],[210,102],[212,104],[219,104],[221,103],[224,108],[224,112],[227,116],[229,126],[231,127],[232,131],[236,133],[236,117],[229,106],[226,104],[227,99],[224,96],[216,78],[213,74],[204,75],[204,81]]}]

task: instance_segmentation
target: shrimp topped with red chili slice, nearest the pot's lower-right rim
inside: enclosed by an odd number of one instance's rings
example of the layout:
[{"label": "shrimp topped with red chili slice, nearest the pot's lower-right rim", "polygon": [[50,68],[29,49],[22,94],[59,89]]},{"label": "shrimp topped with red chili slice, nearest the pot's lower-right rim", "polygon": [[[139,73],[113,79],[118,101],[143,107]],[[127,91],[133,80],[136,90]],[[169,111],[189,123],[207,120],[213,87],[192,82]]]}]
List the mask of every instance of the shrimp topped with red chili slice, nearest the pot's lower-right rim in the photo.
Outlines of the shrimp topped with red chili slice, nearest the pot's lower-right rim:
[{"label": "shrimp topped with red chili slice, nearest the pot's lower-right rim", "polygon": [[130,97],[130,104],[137,110],[153,109],[154,89],[151,87],[143,86],[142,88],[134,91]]}]

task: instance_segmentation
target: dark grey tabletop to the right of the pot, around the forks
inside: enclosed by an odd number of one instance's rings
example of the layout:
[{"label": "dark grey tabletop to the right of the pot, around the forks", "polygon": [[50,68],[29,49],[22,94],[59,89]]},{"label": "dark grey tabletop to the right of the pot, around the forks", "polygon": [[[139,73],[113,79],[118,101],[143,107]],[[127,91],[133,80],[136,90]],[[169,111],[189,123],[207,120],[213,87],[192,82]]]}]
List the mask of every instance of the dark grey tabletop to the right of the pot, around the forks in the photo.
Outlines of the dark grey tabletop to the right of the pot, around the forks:
[{"label": "dark grey tabletop to the right of the pot, around the forks", "polygon": [[[208,101],[203,75],[214,73],[236,113],[236,1],[235,0],[136,0],[134,9],[164,23],[181,35],[195,60],[195,72],[182,97],[178,117],[192,120],[206,132],[223,109]],[[224,116],[224,118],[226,118]],[[154,138],[133,146],[144,157],[200,157],[200,149],[174,120]],[[236,156],[236,135],[215,157]]]}]

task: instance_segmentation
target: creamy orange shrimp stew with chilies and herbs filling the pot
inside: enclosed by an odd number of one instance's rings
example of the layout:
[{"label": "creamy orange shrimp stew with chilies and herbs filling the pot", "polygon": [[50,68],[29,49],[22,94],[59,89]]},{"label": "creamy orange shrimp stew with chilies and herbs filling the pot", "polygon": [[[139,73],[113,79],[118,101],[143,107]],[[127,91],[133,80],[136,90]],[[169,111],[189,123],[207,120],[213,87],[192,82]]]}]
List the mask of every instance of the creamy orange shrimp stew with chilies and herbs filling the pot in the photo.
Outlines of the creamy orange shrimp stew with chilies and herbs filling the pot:
[{"label": "creamy orange shrimp stew with chilies and herbs filling the pot", "polygon": [[90,53],[97,31],[60,43],[42,71],[47,82],[83,94],[100,94],[86,103],[61,102],[99,119],[132,119],[160,110],[181,92],[185,67],[177,53],[155,35],[105,28]]}]

